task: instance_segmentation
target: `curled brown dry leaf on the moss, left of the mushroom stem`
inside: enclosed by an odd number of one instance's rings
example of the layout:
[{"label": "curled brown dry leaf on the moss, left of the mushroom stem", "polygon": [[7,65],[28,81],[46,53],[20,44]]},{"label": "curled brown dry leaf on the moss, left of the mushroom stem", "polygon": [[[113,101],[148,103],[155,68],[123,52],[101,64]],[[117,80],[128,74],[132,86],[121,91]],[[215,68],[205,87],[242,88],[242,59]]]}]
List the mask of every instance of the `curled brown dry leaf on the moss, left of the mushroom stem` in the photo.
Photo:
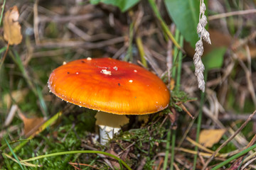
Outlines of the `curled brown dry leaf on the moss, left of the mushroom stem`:
[{"label": "curled brown dry leaf on the moss, left of the mushroom stem", "polygon": [[26,137],[36,135],[38,128],[45,122],[44,118],[26,118],[22,113],[18,113],[18,115],[24,123],[24,135]]}]

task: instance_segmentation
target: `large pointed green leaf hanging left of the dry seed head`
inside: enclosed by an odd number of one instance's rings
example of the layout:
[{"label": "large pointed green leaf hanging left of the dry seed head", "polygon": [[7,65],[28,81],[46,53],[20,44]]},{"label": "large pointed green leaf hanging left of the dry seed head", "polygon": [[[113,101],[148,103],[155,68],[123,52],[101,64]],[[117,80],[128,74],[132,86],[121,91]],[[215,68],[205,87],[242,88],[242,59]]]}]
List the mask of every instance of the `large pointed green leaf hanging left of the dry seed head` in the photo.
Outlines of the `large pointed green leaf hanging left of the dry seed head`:
[{"label": "large pointed green leaf hanging left of the dry seed head", "polygon": [[199,0],[165,0],[164,4],[185,40],[195,48],[198,41],[196,28],[199,21]]}]

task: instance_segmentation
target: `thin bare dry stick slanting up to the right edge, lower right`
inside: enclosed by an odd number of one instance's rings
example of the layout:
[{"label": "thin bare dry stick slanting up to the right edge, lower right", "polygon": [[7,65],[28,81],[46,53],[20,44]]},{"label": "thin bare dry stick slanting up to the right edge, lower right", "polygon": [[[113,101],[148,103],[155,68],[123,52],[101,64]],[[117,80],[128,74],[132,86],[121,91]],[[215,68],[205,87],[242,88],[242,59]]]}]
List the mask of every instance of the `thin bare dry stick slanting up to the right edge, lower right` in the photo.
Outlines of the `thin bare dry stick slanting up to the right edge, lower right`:
[{"label": "thin bare dry stick slanting up to the right edge, lower right", "polygon": [[215,150],[215,152],[212,154],[212,156],[207,160],[206,164],[203,166],[203,170],[205,170],[208,166],[208,164],[211,162],[211,160],[213,160],[213,157],[215,157],[216,154],[218,154],[218,152],[220,152],[220,149],[223,149],[223,147],[225,147],[225,145],[228,144],[228,142],[230,142],[231,140],[233,140],[233,138],[238,135],[238,133],[245,128],[245,125],[247,125],[247,123],[249,123],[249,121],[252,119],[252,117],[255,115],[256,110],[249,116],[249,118],[247,118],[247,120],[245,121],[245,123],[243,123],[240,128],[230,137],[228,138],[228,140],[226,140],[222,145],[220,145],[220,147],[218,147],[218,149]]}]

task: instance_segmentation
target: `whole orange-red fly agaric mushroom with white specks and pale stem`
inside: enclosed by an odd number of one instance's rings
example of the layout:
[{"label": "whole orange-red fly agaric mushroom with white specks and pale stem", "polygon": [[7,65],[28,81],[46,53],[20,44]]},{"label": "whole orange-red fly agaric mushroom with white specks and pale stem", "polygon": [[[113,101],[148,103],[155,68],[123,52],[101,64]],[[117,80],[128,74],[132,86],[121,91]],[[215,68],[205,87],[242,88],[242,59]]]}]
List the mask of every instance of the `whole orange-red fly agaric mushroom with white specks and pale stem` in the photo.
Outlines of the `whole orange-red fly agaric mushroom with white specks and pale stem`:
[{"label": "whole orange-red fly agaric mushroom with white specks and pale stem", "polygon": [[100,111],[97,125],[106,130],[100,132],[102,144],[128,123],[125,115],[156,113],[166,108],[170,99],[166,85],[155,74],[111,58],[89,57],[63,64],[50,74],[48,87],[64,101]]}]

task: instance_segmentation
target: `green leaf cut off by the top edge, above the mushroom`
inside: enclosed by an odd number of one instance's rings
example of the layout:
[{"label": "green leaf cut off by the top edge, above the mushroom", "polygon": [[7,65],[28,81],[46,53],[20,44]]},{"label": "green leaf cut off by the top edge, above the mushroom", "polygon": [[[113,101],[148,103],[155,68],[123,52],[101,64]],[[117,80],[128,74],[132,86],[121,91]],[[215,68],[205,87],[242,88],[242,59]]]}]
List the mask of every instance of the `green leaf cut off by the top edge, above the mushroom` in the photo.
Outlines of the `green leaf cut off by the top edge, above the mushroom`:
[{"label": "green leaf cut off by the top edge, above the mushroom", "polygon": [[136,5],[139,0],[90,0],[91,4],[99,4],[100,2],[117,6],[122,12],[125,12],[129,8],[132,8],[132,6]]}]

